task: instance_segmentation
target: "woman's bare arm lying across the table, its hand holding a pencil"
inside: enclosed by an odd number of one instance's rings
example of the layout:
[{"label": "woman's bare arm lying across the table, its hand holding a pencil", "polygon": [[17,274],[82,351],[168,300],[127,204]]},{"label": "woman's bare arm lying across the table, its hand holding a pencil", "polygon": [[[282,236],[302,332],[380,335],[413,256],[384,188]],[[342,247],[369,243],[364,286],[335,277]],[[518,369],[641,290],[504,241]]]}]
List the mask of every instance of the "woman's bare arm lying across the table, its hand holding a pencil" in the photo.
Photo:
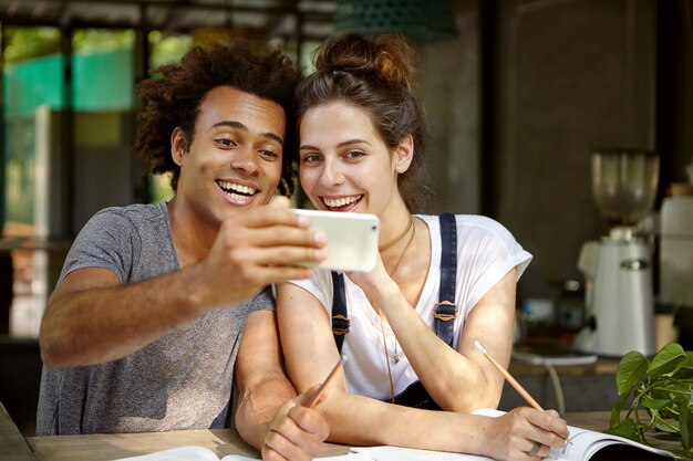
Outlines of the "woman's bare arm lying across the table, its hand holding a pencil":
[{"label": "woman's bare arm lying across the table, its hand holding a pencil", "polygon": [[[289,376],[303,391],[324,379],[339,358],[328,313],[312,294],[292,284],[277,287],[277,304]],[[529,408],[486,418],[356,396],[348,392],[341,374],[317,408],[330,425],[329,440],[352,446],[391,444],[525,460],[524,451],[532,447],[532,440],[561,447],[561,437],[567,434],[565,422],[555,413]],[[548,449],[542,450],[547,455]]]}]

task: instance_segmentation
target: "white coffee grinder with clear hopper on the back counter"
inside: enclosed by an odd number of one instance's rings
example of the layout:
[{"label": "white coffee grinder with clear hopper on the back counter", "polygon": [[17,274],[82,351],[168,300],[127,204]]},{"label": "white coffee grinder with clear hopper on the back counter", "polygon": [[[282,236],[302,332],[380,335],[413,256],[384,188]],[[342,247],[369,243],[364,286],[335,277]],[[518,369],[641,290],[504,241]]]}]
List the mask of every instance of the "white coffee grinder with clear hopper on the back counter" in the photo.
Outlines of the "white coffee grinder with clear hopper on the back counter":
[{"label": "white coffee grinder with clear hopper on the back counter", "polygon": [[592,195],[610,226],[599,242],[583,244],[578,266],[586,276],[586,326],[575,348],[621,357],[654,350],[654,291],[651,234],[638,224],[652,211],[659,157],[645,150],[592,155]]}]

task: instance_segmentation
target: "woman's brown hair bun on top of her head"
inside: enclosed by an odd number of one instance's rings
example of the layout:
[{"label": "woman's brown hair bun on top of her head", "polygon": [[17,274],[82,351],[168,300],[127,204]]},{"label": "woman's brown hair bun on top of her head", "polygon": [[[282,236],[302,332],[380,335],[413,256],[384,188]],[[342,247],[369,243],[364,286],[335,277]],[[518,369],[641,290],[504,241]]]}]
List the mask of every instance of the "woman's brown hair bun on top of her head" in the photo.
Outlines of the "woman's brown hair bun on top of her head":
[{"label": "woman's brown hair bun on top of her head", "polygon": [[358,33],[344,33],[328,39],[318,49],[316,69],[371,74],[396,88],[408,88],[414,51],[400,34],[366,39]]}]

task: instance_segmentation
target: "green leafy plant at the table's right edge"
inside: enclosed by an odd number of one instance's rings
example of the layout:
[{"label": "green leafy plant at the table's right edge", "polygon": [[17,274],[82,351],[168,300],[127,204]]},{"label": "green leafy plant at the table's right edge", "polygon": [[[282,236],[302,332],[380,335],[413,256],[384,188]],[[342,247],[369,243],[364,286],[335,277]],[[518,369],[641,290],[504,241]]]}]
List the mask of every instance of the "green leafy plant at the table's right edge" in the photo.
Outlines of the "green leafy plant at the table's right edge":
[{"label": "green leafy plant at the table's right edge", "polygon": [[650,444],[648,431],[663,431],[680,438],[685,455],[693,455],[693,352],[678,343],[651,359],[630,352],[619,363],[616,384],[619,398],[608,432]]}]

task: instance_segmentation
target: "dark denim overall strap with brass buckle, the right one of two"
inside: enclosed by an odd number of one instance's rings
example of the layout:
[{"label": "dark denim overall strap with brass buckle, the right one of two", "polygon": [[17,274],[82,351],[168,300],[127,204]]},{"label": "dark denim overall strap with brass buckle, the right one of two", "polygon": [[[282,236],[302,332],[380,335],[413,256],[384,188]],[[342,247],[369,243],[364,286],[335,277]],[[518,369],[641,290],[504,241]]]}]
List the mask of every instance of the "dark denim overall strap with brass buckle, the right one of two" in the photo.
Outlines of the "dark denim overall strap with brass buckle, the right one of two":
[{"label": "dark denim overall strap with brass buckle, the right one of two", "polygon": [[457,221],[455,214],[443,213],[441,221],[441,289],[438,303],[433,312],[435,334],[453,347],[453,335],[457,317],[455,285],[457,282]]}]

